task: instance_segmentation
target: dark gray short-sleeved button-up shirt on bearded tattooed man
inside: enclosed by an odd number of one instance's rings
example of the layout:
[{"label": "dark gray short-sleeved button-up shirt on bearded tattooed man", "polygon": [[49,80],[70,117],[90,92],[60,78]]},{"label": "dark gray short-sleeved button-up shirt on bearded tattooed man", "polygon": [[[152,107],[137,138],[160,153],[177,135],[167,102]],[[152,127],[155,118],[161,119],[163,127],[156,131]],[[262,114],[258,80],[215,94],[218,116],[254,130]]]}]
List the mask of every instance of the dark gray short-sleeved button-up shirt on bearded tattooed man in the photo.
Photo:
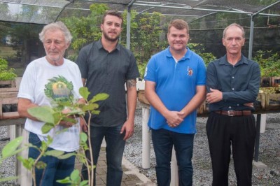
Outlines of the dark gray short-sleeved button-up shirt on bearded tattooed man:
[{"label": "dark gray short-sleeved button-up shirt on bearded tattooed man", "polygon": [[108,52],[101,40],[86,45],[76,60],[82,78],[87,79],[90,91],[89,100],[99,93],[109,94],[109,99],[99,101],[100,114],[92,115],[91,124],[102,127],[115,127],[127,118],[125,101],[125,81],[139,77],[134,55],[118,44]]}]

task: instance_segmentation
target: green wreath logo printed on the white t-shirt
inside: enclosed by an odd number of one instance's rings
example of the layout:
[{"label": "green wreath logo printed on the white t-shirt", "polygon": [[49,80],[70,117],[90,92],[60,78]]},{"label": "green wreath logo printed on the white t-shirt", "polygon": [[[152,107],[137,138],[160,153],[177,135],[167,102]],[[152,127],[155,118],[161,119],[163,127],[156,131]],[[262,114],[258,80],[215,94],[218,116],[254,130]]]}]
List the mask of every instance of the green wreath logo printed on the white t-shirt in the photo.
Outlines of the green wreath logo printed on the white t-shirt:
[{"label": "green wreath logo printed on the white t-shirt", "polygon": [[71,101],[73,100],[73,83],[69,82],[63,76],[53,77],[45,85],[45,96],[54,101]]}]

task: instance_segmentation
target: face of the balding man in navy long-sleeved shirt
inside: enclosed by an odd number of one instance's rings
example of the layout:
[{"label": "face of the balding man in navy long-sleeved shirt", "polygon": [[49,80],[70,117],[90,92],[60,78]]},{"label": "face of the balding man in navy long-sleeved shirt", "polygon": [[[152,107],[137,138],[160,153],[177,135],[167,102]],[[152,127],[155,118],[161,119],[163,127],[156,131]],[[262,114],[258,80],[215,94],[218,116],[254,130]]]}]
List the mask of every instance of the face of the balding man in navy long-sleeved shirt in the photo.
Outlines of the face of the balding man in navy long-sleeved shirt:
[{"label": "face of the balding man in navy long-sleeved shirt", "polygon": [[229,27],[225,32],[225,36],[223,38],[223,45],[227,50],[227,53],[230,55],[239,55],[241,54],[241,48],[245,43],[245,38],[243,37],[243,33],[239,27]]}]

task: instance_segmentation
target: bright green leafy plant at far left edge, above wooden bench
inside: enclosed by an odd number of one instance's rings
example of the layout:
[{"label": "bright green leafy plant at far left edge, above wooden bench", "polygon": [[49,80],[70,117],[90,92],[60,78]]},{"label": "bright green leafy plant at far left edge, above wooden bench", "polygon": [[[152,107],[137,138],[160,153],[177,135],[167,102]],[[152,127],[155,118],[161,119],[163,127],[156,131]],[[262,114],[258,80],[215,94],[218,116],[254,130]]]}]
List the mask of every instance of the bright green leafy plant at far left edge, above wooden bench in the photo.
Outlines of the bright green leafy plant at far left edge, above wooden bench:
[{"label": "bright green leafy plant at far left edge, above wooden bench", "polygon": [[15,80],[16,77],[15,69],[8,69],[8,61],[0,57],[0,80]]}]

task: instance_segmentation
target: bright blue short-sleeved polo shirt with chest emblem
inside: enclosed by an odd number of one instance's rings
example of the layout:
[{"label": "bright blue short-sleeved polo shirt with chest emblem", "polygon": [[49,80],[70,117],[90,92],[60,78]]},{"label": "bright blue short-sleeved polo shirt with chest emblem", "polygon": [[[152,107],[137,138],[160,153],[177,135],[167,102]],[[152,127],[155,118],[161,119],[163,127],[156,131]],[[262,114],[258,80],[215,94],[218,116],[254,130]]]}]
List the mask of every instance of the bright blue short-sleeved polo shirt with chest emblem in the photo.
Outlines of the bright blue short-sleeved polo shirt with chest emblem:
[{"label": "bright blue short-sleeved polo shirt with chest emblem", "polygon": [[[155,82],[155,92],[167,109],[182,110],[195,96],[197,85],[205,85],[206,68],[203,59],[187,48],[186,55],[175,62],[169,48],[153,55],[148,62],[145,80]],[[178,127],[169,127],[165,117],[151,106],[148,126],[183,134],[195,134],[196,110],[184,118]]]}]

